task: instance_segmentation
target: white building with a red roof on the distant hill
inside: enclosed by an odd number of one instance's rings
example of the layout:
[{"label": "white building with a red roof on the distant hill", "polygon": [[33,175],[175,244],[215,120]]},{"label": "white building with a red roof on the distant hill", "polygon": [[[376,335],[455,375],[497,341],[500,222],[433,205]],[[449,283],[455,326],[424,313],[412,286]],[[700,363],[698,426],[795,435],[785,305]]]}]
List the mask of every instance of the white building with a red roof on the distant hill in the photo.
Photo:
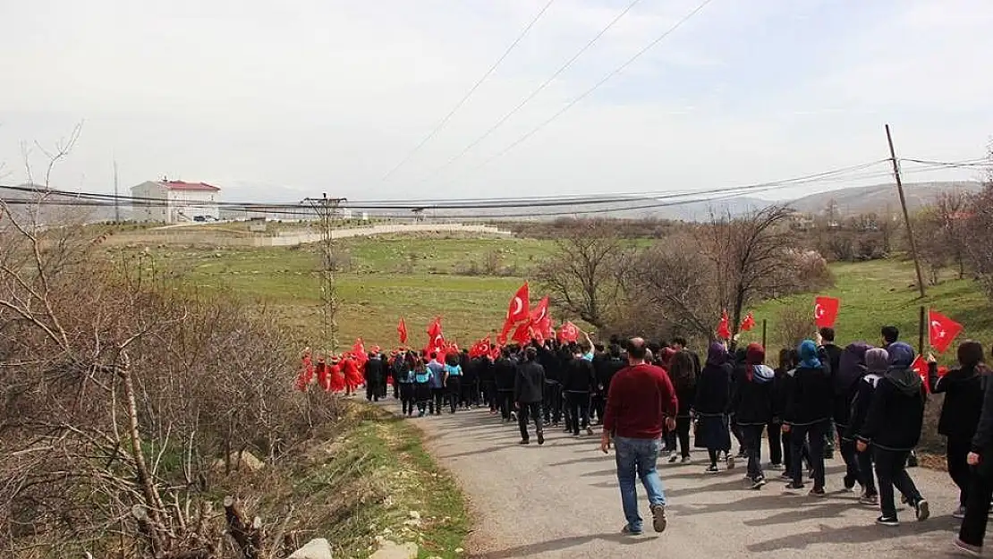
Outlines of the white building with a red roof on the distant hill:
[{"label": "white building with a red roof on the distant hill", "polygon": [[131,187],[132,218],[182,223],[220,218],[220,189],[207,183],[147,181]]}]

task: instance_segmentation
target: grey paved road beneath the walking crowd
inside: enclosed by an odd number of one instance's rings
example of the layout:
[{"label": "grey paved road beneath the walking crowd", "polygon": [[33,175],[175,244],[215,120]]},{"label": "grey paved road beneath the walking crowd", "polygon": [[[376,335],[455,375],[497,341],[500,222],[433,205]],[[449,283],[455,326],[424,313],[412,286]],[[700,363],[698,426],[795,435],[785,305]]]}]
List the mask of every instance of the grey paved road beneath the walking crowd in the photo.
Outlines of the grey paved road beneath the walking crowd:
[{"label": "grey paved road beneath the walking crowd", "polygon": [[[931,504],[931,519],[914,520],[903,509],[897,528],[875,525],[878,509],[858,504],[841,488],[840,461],[829,461],[827,498],[789,494],[784,484],[744,487],[744,469],[702,474],[703,453],[692,464],[660,467],[668,499],[664,534],[629,538],[617,488],[614,457],[601,454],[599,433],[572,439],[551,429],[538,447],[519,447],[516,426],[502,425],[488,411],[413,419],[428,447],[468,494],[477,531],[473,557],[569,557],[583,559],[666,558],[901,558],[955,556],[950,542],[955,493],[947,476],[911,470]],[[771,473],[772,474],[772,473]],[[775,473],[778,475],[779,473]],[[807,487],[810,487],[809,485]],[[644,492],[638,486],[642,515]]]}]

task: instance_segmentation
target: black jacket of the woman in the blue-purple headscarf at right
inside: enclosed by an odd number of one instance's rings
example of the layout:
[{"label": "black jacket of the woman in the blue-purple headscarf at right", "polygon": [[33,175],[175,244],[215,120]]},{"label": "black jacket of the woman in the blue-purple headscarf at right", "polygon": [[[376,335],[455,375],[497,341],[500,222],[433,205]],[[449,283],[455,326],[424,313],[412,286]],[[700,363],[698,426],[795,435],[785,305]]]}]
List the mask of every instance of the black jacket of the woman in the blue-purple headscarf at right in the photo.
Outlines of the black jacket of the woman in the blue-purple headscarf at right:
[{"label": "black jacket of the woman in the blue-purple headscarf at right", "polygon": [[884,375],[857,438],[884,450],[914,450],[921,441],[924,422],[924,385],[920,384],[920,387],[920,390],[907,393]]}]

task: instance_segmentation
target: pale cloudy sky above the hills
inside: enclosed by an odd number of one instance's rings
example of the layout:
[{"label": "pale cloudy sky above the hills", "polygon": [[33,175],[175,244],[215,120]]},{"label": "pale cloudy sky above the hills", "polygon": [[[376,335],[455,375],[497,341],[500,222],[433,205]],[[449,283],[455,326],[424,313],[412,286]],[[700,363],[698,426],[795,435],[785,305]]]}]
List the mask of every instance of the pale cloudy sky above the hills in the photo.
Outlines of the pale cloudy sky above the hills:
[{"label": "pale cloudy sky above the hills", "polygon": [[54,188],[112,192],[116,161],[253,202],[689,192],[889,157],[886,123],[901,157],[993,136],[989,0],[713,0],[506,151],[700,2],[640,0],[457,157],[632,1],[553,0],[412,154],[547,0],[0,0],[0,184],[79,123]]}]

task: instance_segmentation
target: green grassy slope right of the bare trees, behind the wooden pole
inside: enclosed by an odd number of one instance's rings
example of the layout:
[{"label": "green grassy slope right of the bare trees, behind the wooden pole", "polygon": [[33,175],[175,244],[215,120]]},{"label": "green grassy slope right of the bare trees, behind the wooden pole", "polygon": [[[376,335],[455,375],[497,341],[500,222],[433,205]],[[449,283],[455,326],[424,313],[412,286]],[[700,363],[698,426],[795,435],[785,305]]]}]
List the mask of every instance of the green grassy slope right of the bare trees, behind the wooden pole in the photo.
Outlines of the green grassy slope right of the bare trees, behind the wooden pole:
[{"label": "green grassy slope right of the bare trees, behind the wooden pole", "polygon": [[[809,309],[812,316],[815,295],[841,299],[841,311],[835,326],[840,345],[859,340],[876,344],[880,341],[879,331],[883,325],[896,325],[900,328],[901,338],[916,347],[921,306],[961,323],[965,331],[957,341],[972,338],[987,345],[993,343],[993,307],[971,280],[953,279],[954,275],[948,272],[940,284],[927,287],[927,297],[922,300],[915,283],[913,262],[877,260],[843,263],[832,265],[831,271],[835,279],[834,288],[820,294],[767,302],[755,309],[755,317],[760,324],[762,319],[769,321],[770,347],[781,346],[777,323],[783,309]],[[760,336],[761,329],[743,338],[754,342]]]}]

